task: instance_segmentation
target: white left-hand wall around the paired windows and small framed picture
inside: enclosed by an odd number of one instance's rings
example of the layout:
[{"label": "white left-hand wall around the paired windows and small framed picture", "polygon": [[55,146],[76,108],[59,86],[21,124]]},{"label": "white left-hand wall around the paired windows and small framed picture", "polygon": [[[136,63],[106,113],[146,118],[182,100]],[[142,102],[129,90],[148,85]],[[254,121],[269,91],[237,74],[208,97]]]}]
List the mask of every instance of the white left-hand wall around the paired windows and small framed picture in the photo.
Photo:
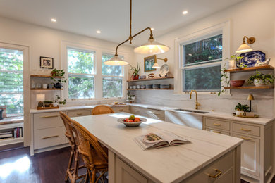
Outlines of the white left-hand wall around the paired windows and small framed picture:
[{"label": "white left-hand wall around the paired windows and small framed picture", "polygon": [[[31,25],[27,23],[18,22],[7,18],[0,17],[0,42],[8,44],[19,44],[29,47],[29,62],[30,68],[26,68],[24,73],[30,74],[49,74],[50,70],[39,68],[39,57],[47,56],[54,58],[54,68],[61,69],[61,42],[71,42],[75,44],[83,44],[86,46],[92,46],[109,50],[114,53],[116,49],[116,43],[106,42],[100,39],[85,37],[78,34],[72,34],[59,30],[52,30],[46,27],[37,25]],[[118,54],[123,52],[126,54],[128,61],[133,61],[133,48],[130,46],[120,46]],[[29,80],[30,81],[30,80]],[[27,84],[24,84],[27,86]],[[30,86],[30,85],[28,85]],[[32,102],[32,107],[36,104],[35,94],[37,92],[30,92],[30,97],[25,97],[28,103]],[[45,92],[46,99],[51,99],[54,96],[54,92]],[[111,101],[105,101],[111,102]],[[88,105],[92,103],[100,103],[100,101],[89,101],[80,103],[68,103],[68,105]],[[29,109],[27,109],[29,111]],[[30,142],[30,116],[25,114],[25,146]]]}]

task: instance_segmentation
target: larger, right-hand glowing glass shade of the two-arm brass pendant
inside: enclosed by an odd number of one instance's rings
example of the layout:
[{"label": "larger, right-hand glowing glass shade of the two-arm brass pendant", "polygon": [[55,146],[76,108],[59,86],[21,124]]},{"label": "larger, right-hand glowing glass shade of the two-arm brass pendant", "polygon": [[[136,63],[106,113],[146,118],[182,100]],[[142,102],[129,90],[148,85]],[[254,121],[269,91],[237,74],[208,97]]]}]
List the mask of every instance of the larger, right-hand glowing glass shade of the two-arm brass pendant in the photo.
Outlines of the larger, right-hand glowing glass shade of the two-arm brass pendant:
[{"label": "larger, right-hand glowing glass shade of the two-arm brass pendant", "polygon": [[140,54],[159,54],[169,51],[169,46],[165,46],[159,42],[154,41],[154,39],[148,39],[148,42],[138,46],[134,49],[135,53]]}]

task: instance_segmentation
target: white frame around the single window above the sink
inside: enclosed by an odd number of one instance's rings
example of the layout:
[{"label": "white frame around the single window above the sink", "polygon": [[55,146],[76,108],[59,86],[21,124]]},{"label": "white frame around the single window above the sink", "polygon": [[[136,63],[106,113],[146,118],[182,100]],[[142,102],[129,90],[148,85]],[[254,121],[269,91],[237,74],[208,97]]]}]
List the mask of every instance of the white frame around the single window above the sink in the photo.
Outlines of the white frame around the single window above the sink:
[{"label": "white frame around the single window above the sink", "polygon": [[[215,66],[221,64],[221,68],[224,67],[226,63],[226,58],[230,58],[230,41],[231,41],[231,34],[230,34],[230,20],[226,20],[223,23],[219,23],[218,25],[213,25],[203,30],[199,30],[192,34],[188,34],[184,37],[179,37],[174,40],[175,43],[175,78],[178,80],[174,80],[174,93],[175,94],[190,94],[188,91],[183,91],[183,69],[190,69],[190,68],[205,68],[210,66]],[[222,61],[214,62],[214,63],[204,63],[202,65],[190,65],[183,67],[183,45],[190,44],[193,42],[200,41],[202,39],[207,39],[209,37],[214,37],[215,35],[222,34],[223,37],[223,51],[222,51]],[[229,74],[228,74],[229,77]],[[225,83],[221,82],[221,86]],[[222,88],[221,88],[222,89]],[[217,94],[217,91],[197,91],[200,94]],[[224,94],[230,94],[230,90],[227,89]]]}]

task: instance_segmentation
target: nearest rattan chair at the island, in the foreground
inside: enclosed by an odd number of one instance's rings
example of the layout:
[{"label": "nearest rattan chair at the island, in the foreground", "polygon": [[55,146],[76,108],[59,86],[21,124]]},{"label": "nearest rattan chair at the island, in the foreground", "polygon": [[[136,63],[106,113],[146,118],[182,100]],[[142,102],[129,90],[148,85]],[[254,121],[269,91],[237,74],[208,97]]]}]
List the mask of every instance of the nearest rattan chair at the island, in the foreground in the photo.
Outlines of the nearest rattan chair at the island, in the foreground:
[{"label": "nearest rattan chair at the island, in the foreground", "polygon": [[[97,141],[97,137],[94,137],[78,122],[71,120],[71,125],[73,132],[75,132],[75,137],[79,141],[78,151],[87,168],[85,182],[89,179],[90,182],[97,183],[108,171],[108,151]],[[99,177],[96,179],[97,173]],[[102,182],[104,182],[103,179]]]}]

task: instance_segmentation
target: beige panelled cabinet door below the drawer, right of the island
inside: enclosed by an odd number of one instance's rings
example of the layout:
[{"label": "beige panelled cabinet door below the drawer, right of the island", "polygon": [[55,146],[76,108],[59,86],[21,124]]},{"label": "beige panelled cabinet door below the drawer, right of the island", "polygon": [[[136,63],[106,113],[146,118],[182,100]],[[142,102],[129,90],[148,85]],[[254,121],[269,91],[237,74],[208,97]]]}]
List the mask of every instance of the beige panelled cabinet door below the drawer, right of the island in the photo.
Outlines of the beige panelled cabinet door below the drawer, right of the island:
[{"label": "beige panelled cabinet door below the drawer, right of the island", "polygon": [[259,176],[259,139],[241,134],[233,134],[233,137],[244,139],[240,153],[242,173]]}]

